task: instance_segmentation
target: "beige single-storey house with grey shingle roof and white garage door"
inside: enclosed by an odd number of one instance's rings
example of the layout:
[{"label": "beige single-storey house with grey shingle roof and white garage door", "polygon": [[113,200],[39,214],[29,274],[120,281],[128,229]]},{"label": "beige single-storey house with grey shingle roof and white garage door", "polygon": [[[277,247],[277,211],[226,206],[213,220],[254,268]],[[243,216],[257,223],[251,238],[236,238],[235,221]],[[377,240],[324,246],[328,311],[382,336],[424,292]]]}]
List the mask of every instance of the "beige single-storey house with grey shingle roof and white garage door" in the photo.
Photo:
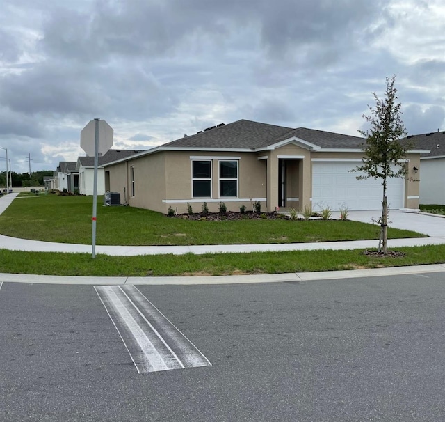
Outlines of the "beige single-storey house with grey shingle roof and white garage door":
[{"label": "beige single-storey house with grey shingle roof and white garage door", "polygon": [[[261,210],[277,208],[314,210],[379,210],[381,180],[357,180],[350,170],[362,163],[364,139],[321,130],[282,127],[238,120],[184,136],[104,165],[109,190],[120,192],[121,202],[166,213],[171,207],[195,212],[202,204],[217,211],[254,201]],[[420,153],[407,154],[407,178],[388,182],[389,207],[419,208]]]}]

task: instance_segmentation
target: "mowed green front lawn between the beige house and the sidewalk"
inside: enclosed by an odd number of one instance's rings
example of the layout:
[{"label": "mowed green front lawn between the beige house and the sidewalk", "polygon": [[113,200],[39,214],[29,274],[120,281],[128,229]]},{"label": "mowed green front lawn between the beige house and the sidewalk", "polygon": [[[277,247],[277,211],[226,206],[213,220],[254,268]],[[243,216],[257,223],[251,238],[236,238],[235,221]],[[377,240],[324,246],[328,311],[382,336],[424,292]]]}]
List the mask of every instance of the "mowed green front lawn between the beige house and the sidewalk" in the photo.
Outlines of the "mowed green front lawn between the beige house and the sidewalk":
[{"label": "mowed green front lawn between the beige house and the sidewalk", "polygon": [[[376,217],[378,217],[376,212]],[[92,196],[24,195],[0,215],[0,233],[48,242],[90,244]],[[97,206],[99,245],[268,244],[369,240],[379,227],[357,221],[188,221],[131,207]],[[422,237],[389,228],[389,238]]]}]

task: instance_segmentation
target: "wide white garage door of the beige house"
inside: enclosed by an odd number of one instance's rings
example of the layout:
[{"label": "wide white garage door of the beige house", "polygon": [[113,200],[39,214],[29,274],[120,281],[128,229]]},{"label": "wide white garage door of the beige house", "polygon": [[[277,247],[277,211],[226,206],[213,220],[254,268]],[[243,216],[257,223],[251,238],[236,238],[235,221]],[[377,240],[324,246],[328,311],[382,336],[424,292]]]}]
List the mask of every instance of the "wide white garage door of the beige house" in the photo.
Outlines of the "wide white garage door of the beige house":
[{"label": "wide white garage door of the beige house", "polygon": [[[359,173],[350,173],[360,162],[312,162],[312,208],[329,206],[339,210],[381,210],[383,187],[381,180],[357,180]],[[405,181],[390,178],[387,185],[389,208],[403,208]]]}]

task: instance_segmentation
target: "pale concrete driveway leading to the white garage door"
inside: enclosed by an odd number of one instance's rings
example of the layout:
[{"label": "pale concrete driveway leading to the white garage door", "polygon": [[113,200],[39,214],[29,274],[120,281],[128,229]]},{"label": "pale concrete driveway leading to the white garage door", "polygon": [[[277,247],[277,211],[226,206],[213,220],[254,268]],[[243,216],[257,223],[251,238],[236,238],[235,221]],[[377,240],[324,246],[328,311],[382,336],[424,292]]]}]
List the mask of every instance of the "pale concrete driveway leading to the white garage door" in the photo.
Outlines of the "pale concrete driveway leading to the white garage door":
[{"label": "pale concrete driveway leading to the white garage door", "polygon": [[[348,219],[371,223],[372,219],[378,219],[381,210],[374,211],[350,211]],[[332,217],[338,217],[336,215]],[[433,214],[419,212],[403,212],[401,210],[390,210],[388,226],[404,230],[414,230],[423,235],[431,237],[445,237],[445,218]]]}]

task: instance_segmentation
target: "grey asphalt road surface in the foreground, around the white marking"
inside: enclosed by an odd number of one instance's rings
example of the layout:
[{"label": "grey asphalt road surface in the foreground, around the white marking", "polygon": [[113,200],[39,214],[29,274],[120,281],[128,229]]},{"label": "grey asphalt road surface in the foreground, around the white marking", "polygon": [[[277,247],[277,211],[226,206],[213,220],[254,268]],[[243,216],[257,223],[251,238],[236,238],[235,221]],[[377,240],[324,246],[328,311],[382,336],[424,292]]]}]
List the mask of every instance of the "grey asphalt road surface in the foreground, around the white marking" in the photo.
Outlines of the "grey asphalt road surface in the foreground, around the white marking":
[{"label": "grey asphalt road surface in the foreground, around the white marking", "polygon": [[444,421],[444,287],[138,286],[211,362],[139,374],[93,286],[3,283],[0,421]]}]

